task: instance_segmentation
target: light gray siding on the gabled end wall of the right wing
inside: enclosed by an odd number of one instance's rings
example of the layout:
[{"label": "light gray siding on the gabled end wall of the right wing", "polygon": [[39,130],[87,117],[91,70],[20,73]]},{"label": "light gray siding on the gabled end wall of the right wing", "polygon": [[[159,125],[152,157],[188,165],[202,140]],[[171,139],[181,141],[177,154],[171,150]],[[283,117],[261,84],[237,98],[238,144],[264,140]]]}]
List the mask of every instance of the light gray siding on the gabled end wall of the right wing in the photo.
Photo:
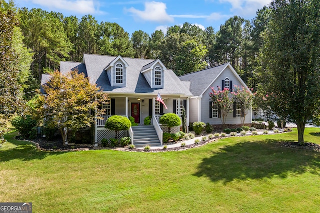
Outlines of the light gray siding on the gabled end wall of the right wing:
[{"label": "light gray siding on the gabled end wall of the right wing", "polygon": [[[222,86],[222,80],[224,80],[226,77],[229,78],[230,81],[232,81],[232,88],[234,88],[234,85],[241,85],[240,81],[235,77],[235,75],[232,73],[232,71],[226,67],[226,69],[218,76],[218,78],[210,85],[211,87],[214,87],[214,89],[217,89],[217,86]],[[243,85],[244,86],[244,85]],[[210,123],[210,124],[221,124],[220,118],[209,118],[209,92],[211,92],[211,88],[209,87],[204,93],[201,98],[201,121],[204,123]],[[240,124],[240,118],[233,118],[233,111],[230,112],[227,117],[225,124]],[[244,123],[251,123],[251,111],[245,116]]]}]

